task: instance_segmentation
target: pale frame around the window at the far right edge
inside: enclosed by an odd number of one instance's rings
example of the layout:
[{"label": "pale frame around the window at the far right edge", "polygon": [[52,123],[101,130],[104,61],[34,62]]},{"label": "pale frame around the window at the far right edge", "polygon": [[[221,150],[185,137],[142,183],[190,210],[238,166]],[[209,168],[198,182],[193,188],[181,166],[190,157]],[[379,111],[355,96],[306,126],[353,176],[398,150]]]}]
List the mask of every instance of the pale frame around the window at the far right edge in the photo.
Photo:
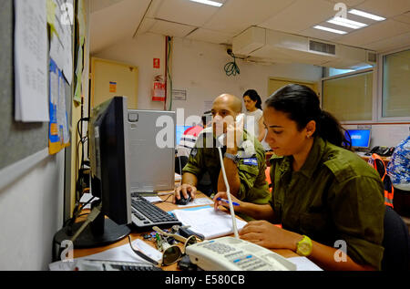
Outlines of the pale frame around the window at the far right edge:
[{"label": "pale frame around the window at the far right edge", "polygon": [[377,56],[377,122],[408,122],[409,117],[383,117],[383,85],[384,85],[384,57],[389,55],[410,50],[410,46],[389,50]]}]

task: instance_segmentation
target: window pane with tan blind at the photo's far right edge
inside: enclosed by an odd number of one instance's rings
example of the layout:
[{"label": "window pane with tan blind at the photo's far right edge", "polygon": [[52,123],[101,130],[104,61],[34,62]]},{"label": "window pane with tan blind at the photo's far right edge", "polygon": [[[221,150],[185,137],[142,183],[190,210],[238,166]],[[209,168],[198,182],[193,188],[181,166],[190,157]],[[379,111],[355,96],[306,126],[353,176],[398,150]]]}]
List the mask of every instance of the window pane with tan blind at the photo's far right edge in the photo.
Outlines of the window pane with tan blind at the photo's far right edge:
[{"label": "window pane with tan blind at the photo's far right edge", "polygon": [[383,57],[382,118],[410,117],[410,50]]}]

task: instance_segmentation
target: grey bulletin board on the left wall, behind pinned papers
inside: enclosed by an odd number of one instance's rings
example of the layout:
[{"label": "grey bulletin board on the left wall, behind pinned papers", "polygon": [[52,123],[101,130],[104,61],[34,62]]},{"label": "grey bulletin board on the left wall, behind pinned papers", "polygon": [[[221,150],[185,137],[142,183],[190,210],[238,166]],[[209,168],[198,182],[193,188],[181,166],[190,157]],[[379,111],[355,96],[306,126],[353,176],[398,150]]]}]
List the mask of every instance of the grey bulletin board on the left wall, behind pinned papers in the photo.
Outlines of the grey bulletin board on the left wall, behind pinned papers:
[{"label": "grey bulletin board on the left wall, behind pinned papers", "polygon": [[[14,0],[0,1],[0,171],[48,148],[48,122],[15,121],[14,12]],[[72,88],[64,87],[70,118]]]}]

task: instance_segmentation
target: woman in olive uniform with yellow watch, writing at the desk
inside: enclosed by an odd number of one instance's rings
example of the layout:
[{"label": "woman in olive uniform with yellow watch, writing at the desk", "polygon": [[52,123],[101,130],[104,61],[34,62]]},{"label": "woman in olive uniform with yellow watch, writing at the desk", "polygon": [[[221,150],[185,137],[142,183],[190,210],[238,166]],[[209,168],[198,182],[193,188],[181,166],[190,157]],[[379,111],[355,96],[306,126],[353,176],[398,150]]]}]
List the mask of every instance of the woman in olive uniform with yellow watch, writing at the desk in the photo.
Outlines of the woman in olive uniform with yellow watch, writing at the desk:
[{"label": "woman in olive uniform with yellow watch, writing at the desk", "polygon": [[[385,209],[376,171],[342,148],[339,122],[321,110],[312,89],[288,85],[265,104],[266,141],[276,155],[272,201],[257,205],[232,198],[240,203],[235,211],[266,220],[249,222],[241,239],[290,249],[326,270],[380,270]],[[220,197],[226,192],[215,196],[215,208],[227,207]]]}]

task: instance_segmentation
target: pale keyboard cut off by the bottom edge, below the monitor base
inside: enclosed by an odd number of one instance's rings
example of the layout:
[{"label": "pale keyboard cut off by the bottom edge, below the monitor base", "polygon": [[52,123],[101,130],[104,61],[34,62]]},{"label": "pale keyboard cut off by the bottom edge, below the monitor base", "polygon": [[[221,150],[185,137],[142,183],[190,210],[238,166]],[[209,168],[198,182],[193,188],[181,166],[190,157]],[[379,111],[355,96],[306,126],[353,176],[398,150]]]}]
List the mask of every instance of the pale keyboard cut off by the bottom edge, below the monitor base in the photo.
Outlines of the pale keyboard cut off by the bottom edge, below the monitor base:
[{"label": "pale keyboard cut off by the bottom edge, below the monitor base", "polygon": [[150,263],[79,259],[77,271],[162,271]]}]

